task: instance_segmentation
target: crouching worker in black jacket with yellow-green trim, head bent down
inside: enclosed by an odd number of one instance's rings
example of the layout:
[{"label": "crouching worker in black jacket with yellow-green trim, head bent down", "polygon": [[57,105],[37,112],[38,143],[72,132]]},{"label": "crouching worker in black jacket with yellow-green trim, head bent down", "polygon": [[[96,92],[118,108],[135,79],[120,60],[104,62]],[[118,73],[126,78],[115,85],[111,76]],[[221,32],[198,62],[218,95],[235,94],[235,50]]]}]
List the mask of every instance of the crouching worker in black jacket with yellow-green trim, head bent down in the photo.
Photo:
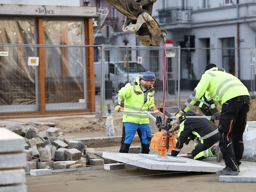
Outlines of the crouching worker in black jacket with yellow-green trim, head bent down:
[{"label": "crouching worker in black jacket with yellow-green trim, head bent down", "polygon": [[[185,116],[200,116],[192,111],[185,113]],[[217,125],[206,118],[187,118],[180,123],[180,129],[176,139],[176,148],[172,150],[171,156],[177,156],[184,143],[188,144],[193,140],[195,148],[187,158],[201,160],[216,156],[217,162],[220,162],[222,155],[219,152],[219,146],[214,145],[219,141],[219,131]],[[214,145],[214,146],[213,146]]]}]

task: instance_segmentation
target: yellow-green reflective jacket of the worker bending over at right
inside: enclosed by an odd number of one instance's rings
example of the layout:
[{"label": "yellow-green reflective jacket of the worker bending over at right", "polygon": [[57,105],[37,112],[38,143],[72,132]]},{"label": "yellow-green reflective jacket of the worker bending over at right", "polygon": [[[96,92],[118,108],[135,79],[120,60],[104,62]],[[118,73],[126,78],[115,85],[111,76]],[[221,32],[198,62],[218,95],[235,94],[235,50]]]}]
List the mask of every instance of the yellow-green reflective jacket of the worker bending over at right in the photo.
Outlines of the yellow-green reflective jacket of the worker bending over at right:
[{"label": "yellow-green reflective jacket of the worker bending over at right", "polygon": [[206,91],[220,105],[237,96],[249,95],[246,86],[236,76],[226,73],[222,68],[212,67],[202,75],[182,110],[187,112]]}]

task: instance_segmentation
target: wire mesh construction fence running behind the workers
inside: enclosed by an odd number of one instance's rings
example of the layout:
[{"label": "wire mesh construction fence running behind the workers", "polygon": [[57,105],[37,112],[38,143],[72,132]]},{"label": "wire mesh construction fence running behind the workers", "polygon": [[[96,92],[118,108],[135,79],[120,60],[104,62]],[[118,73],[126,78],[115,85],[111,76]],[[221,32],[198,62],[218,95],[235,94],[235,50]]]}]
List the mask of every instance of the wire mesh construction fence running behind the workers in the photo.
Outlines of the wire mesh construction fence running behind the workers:
[{"label": "wire mesh construction fence running behind the workers", "polygon": [[[255,93],[253,48],[166,49],[165,106],[180,106],[207,63],[240,77]],[[38,61],[39,60],[39,61]],[[0,44],[0,117],[105,113],[115,93],[145,71],[163,103],[163,47]]]}]

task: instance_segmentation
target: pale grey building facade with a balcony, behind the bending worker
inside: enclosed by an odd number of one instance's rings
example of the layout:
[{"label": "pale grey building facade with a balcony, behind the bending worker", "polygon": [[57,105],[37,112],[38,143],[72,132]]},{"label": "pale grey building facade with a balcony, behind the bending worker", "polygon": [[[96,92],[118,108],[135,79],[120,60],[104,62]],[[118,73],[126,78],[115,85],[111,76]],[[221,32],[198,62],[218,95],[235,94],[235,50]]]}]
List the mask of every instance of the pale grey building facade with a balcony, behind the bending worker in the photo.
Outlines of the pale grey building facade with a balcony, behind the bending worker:
[{"label": "pale grey building facade with a balcony, behind the bending worker", "polygon": [[[193,89],[206,64],[215,63],[251,90],[251,79],[255,79],[251,64],[256,54],[250,48],[256,47],[256,0],[157,0],[153,16],[167,30],[166,39],[182,48],[181,89]],[[128,45],[140,45],[134,34],[119,30],[111,45],[124,45],[124,39],[128,39]],[[95,42],[104,41],[99,33]],[[148,62],[161,63],[161,59]]]}]

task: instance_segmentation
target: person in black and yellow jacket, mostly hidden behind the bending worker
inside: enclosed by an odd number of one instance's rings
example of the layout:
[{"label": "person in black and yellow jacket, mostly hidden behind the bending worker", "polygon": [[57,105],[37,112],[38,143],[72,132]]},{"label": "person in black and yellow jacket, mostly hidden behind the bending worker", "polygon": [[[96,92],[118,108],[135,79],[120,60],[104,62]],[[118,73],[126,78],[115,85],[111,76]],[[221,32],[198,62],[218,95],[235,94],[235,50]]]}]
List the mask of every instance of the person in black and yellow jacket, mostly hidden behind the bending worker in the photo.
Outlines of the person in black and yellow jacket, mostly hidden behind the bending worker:
[{"label": "person in black and yellow jacket, mostly hidden behind the bending worker", "polygon": [[205,116],[212,116],[214,113],[218,112],[216,104],[209,96],[208,92],[205,92],[205,94],[194,104],[194,106],[198,106]]}]

